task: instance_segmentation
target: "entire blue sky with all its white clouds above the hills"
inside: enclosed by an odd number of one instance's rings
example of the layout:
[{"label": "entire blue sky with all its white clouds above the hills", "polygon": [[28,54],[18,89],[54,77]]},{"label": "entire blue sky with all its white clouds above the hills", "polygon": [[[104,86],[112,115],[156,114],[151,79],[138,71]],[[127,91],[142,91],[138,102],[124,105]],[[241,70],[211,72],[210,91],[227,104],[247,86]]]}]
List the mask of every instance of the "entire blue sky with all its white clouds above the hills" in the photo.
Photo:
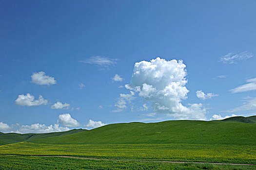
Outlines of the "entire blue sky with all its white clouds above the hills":
[{"label": "entire blue sky with all its white clouds above the hills", "polygon": [[255,115],[255,16],[255,0],[1,0],[0,131]]}]

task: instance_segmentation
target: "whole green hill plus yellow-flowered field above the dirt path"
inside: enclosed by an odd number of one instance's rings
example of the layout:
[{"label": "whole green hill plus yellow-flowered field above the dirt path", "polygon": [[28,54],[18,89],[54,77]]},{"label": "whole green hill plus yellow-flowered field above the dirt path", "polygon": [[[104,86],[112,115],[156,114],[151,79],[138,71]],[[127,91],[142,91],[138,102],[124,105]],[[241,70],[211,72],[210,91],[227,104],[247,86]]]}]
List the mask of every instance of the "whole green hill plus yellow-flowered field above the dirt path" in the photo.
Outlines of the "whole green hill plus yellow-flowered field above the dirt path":
[{"label": "whole green hill plus yellow-flowered field above the dirt path", "polygon": [[254,119],[109,124],[2,145],[0,154],[256,164]]}]

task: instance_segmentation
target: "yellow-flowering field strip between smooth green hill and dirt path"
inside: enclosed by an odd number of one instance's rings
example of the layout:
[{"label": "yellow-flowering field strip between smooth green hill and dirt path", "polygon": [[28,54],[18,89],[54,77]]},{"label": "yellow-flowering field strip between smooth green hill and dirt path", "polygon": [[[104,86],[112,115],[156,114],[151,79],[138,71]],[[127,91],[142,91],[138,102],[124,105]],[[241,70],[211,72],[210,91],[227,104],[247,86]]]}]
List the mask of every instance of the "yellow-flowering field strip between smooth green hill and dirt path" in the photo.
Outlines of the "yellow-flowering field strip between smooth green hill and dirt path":
[{"label": "yellow-flowering field strip between smooth green hill and dirt path", "polygon": [[39,144],[0,146],[0,154],[72,155],[82,157],[256,164],[255,145],[226,144]]}]

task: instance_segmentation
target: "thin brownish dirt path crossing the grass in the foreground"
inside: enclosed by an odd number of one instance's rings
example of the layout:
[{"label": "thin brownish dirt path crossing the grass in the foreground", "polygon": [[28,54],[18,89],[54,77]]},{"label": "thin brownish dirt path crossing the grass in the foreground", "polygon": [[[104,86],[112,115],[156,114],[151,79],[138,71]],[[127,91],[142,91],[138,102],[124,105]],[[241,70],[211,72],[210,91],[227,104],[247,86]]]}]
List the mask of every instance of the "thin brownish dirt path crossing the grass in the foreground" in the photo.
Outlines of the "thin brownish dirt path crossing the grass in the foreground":
[{"label": "thin brownish dirt path crossing the grass in the foreground", "polygon": [[[7,154],[8,156],[22,156],[15,154]],[[85,158],[85,157],[75,157],[75,156],[48,156],[48,155],[28,155],[28,156],[37,156],[37,157],[66,157],[74,159],[87,159],[87,160],[105,160],[105,161],[145,161],[145,162],[167,162],[167,163],[193,163],[193,164],[217,164],[217,165],[247,165],[255,166],[254,164],[231,164],[231,163],[216,163],[216,162],[186,162],[186,161],[158,161],[158,160],[132,160],[132,159],[102,159],[102,158]]]}]

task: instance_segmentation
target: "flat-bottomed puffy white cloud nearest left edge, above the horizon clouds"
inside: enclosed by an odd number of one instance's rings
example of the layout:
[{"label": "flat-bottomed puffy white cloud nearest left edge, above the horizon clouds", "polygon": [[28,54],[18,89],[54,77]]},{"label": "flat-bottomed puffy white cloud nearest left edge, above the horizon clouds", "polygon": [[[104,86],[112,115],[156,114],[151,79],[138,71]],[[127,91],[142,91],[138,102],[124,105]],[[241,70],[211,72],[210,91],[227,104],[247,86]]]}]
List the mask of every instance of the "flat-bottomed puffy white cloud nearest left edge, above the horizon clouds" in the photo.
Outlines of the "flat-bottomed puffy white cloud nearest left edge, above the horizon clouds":
[{"label": "flat-bottomed puffy white cloud nearest left edge, above the horizon clouds", "polygon": [[41,95],[39,96],[38,100],[35,100],[35,96],[27,93],[26,95],[19,95],[15,101],[15,104],[20,106],[38,106],[42,104],[47,104],[47,102],[48,101],[43,99]]}]

